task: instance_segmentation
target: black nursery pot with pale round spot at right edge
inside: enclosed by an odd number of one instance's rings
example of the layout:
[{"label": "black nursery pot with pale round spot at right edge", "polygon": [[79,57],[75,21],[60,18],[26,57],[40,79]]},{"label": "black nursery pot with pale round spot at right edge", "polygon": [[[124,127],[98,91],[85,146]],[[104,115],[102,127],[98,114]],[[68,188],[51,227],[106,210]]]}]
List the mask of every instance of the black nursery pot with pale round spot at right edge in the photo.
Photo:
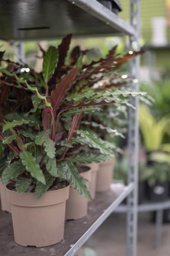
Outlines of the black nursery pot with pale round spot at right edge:
[{"label": "black nursery pot with pale round spot at right edge", "polygon": [[152,202],[158,203],[167,200],[169,198],[169,193],[169,181],[157,181],[155,186],[148,186],[148,197]]}]

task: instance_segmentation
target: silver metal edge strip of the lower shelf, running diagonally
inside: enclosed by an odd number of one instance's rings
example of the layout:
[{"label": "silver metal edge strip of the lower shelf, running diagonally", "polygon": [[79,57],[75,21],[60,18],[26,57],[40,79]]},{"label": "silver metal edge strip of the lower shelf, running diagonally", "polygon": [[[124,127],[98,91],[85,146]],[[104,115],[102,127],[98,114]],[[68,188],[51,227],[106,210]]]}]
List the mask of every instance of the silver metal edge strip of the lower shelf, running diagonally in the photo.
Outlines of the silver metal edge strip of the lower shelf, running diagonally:
[{"label": "silver metal edge strip of the lower shelf, running diagonally", "polygon": [[104,222],[108,216],[113,213],[114,209],[126,198],[134,189],[134,183],[131,182],[128,186],[124,187],[124,191],[110,204],[110,206],[102,213],[102,215],[93,223],[93,225],[82,235],[82,237],[70,248],[64,256],[73,256],[78,249],[93,235],[98,227]]}]

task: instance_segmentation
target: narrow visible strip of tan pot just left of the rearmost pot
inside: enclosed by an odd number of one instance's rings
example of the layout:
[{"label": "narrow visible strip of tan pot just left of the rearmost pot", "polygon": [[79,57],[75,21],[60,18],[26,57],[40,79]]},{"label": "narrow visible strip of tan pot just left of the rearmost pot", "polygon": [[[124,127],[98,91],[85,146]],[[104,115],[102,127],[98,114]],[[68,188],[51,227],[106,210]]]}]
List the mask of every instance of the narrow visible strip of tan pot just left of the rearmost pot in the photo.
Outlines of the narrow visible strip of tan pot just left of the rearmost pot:
[{"label": "narrow visible strip of tan pot just left of the rearmost pot", "polygon": [[97,172],[99,170],[99,164],[92,163],[88,166],[91,168],[91,181],[89,182],[89,192],[92,199],[94,199],[96,195],[96,181],[97,181]]}]

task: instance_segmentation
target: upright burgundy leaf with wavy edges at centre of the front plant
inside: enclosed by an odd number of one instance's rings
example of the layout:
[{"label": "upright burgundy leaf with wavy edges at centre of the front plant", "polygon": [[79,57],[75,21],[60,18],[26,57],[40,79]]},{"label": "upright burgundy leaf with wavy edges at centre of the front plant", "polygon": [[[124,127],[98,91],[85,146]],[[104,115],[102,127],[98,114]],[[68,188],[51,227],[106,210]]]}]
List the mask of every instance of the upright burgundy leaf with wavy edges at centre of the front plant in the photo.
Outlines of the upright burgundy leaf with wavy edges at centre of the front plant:
[{"label": "upright burgundy leaf with wavy edges at centre of the front plant", "polygon": [[60,84],[56,85],[56,89],[51,93],[51,105],[54,114],[57,112],[63,97],[66,95],[67,90],[70,88],[72,82],[75,79],[78,68],[71,69],[68,75],[62,77]]}]

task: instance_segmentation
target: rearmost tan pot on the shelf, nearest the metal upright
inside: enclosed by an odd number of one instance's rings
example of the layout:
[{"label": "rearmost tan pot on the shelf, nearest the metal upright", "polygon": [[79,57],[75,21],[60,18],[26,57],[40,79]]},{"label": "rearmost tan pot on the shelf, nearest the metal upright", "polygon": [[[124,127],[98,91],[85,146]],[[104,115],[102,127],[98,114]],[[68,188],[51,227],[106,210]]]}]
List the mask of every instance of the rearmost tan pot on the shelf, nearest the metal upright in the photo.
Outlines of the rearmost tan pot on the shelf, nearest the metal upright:
[{"label": "rearmost tan pot on the shelf, nearest the metal upright", "polygon": [[110,189],[113,180],[114,159],[99,164],[96,191],[104,192]]}]

